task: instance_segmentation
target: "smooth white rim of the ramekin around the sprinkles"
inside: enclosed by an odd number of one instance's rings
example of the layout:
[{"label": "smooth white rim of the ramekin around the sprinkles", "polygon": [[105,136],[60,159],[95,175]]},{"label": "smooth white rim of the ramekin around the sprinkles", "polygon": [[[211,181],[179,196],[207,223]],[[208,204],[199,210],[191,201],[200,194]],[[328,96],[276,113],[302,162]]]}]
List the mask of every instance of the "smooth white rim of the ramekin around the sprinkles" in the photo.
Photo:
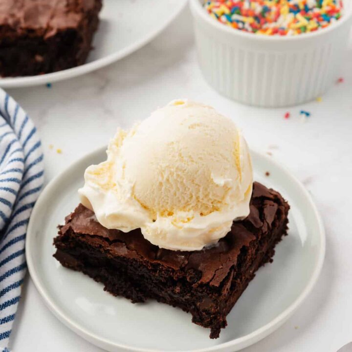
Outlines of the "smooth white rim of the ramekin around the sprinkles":
[{"label": "smooth white rim of the ramekin around the sprinkles", "polygon": [[[248,33],[242,30],[229,28],[228,26],[215,21],[209,14],[205,11],[204,7],[201,5],[200,0],[189,0],[191,5],[191,10],[193,16],[196,15],[200,17],[203,21],[209,23],[210,25],[214,26],[216,29],[229,33],[233,36],[239,36],[247,40],[256,40],[256,41],[277,41],[277,42],[284,42],[284,41],[299,41],[299,40],[307,40],[310,38],[317,38],[324,35],[327,35],[331,31],[336,30],[337,28],[341,27],[345,22],[352,20],[352,3],[349,3],[349,6],[346,8],[344,6],[344,14],[341,16],[341,19],[336,21],[335,23],[330,24],[328,27],[323,28],[318,31],[304,33],[301,35],[296,36],[266,36],[266,35],[254,35],[253,33]],[[351,2],[352,0],[345,0],[346,2]],[[351,26],[352,23],[350,23]]]}]

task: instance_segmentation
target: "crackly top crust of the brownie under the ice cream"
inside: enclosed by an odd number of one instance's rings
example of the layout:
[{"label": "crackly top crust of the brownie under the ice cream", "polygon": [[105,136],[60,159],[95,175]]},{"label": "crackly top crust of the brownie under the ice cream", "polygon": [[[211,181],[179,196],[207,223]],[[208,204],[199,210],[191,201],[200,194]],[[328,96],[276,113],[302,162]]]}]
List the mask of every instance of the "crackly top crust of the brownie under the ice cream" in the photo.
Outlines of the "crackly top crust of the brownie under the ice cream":
[{"label": "crackly top crust of the brownie under the ice cream", "polygon": [[193,252],[159,248],[145,240],[139,229],[128,233],[107,229],[82,204],[66,217],[59,233],[84,236],[84,241],[94,247],[103,246],[110,256],[147,260],[151,264],[162,264],[175,270],[200,270],[202,277],[198,283],[219,286],[230,268],[236,265],[241,248],[264,236],[274,225],[275,218],[278,222],[286,218],[288,208],[278,192],[254,182],[249,216],[245,220],[235,221],[231,231],[216,245]]}]

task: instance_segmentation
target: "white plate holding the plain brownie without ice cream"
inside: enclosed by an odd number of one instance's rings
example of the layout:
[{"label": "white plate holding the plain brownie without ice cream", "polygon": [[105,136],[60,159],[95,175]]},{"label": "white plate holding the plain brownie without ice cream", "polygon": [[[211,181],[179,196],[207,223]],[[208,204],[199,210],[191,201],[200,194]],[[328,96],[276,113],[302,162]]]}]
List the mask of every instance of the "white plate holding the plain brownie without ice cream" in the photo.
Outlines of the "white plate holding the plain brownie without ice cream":
[{"label": "white plate holding the plain brownie without ice cream", "polygon": [[61,81],[107,66],[150,42],[184,8],[187,0],[103,0],[99,28],[86,64],[28,77],[0,78],[1,88]]}]

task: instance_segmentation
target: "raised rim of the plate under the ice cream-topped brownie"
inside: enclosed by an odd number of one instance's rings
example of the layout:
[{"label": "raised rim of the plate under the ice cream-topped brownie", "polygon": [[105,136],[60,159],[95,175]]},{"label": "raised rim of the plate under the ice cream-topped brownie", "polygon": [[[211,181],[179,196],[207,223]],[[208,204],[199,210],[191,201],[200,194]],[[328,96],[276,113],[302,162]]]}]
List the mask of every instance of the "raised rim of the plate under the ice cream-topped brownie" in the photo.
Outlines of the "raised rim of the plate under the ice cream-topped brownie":
[{"label": "raised rim of the plate under the ice cream-topped brownie", "polygon": [[[44,303],[47,308],[64,324],[66,325],[69,329],[73,330],[76,332],[78,335],[83,337],[84,339],[88,340],[90,343],[101,347],[105,349],[109,349],[109,351],[121,351],[121,352],[160,352],[160,350],[156,349],[145,349],[145,348],[139,348],[139,347],[131,347],[128,345],[124,344],[116,344],[115,342],[112,342],[106,338],[102,338],[94,333],[89,332],[85,328],[82,328],[79,324],[74,322],[69,316],[67,316],[57,304],[49,298],[47,295],[47,292],[45,291],[45,286],[40,283],[39,275],[35,270],[35,264],[33,260],[33,256],[31,255],[31,247],[30,247],[30,238],[32,238],[34,235],[32,235],[32,228],[34,227],[33,225],[33,219],[36,217],[36,213],[40,207],[40,204],[43,202],[42,199],[44,199],[46,193],[50,193],[51,189],[53,189],[56,186],[56,183],[61,180],[62,177],[65,177],[66,174],[69,174],[72,172],[72,169],[75,169],[79,164],[84,162],[85,160],[89,160],[91,158],[94,158],[96,154],[102,154],[106,151],[107,147],[100,147],[98,149],[95,149],[94,151],[83,155],[82,157],[78,158],[75,160],[73,163],[71,163],[66,169],[64,169],[59,175],[55,176],[50,180],[50,182],[46,185],[44,188],[43,192],[39,196],[29,223],[27,227],[27,235],[26,235],[26,243],[25,243],[25,255],[26,255],[26,261],[27,261],[27,267],[30,273],[30,276],[33,280],[33,283],[40,293],[42,299],[44,300]],[[206,348],[201,348],[201,349],[193,349],[193,350],[187,350],[187,352],[227,352],[227,351],[239,351],[240,349],[243,349],[245,347],[248,347],[264,337],[268,336],[270,333],[278,329],[282,324],[286,322],[286,320],[293,314],[297,308],[303,303],[303,301],[307,298],[309,293],[311,292],[312,288],[317,282],[317,279],[320,275],[320,272],[323,267],[324,263],[324,258],[325,258],[325,252],[326,252],[326,235],[325,235],[325,228],[324,228],[324,223],[323,220],[319,214],[319,211],[309,194],[308,190],[305,188],[305,186],[301,183],[301,181],[298,180],[298,178],[286,168],[283,167],[278,161],[273,160],[272,158],[269,158],[267,155],[250,150],[250,153],[252,155],[256,155],[257,157],[264,158],[268,164],[274,165],[276,168],[280,169],[285,173],[285,175],[290,178],[291,181],[294,182],[294,184],[300,188],[300,190],[304,193],[306,196],[308,202],[309,202],[309,207],[313,210],[314,212],[314,217],[316,220],[317,228],[319,229],[319,239],[320,239],[320,251],[319,255],[317,258],[317,261],[315,263],[315,268],[313,270],[313,273],[308,281],[308,284],[305,286],[305,288],[302,290],[302,292],[298,295],[298,297],[285,309],[283,310],[280,314],[278,314],[274,319],[272,319],[270,322],[265,324],[264,326],[258,328],[257,330],[254,330],[250,332],[247,335],[241,336],[239,338],[233,339],[231,341],[227,341],[224,343],[221,343],[216,346],[212,347],[206,347]],[[114,350],[111,350],[111,349]],[[117,350],[119,349],[119,350]],[[174,351],[174,352],[185,352],[186,350],[179,350],[179,351]]]}]

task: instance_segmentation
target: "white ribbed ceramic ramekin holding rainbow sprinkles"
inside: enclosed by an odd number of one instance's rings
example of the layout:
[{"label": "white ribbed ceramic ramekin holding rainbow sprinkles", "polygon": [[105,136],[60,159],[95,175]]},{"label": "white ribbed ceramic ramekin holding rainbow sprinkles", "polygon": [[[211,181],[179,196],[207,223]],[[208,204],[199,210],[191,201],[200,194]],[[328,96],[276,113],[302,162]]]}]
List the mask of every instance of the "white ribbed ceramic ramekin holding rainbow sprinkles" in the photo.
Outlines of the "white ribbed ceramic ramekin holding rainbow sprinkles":
[{"label": "white ribbed ceramic ramekin holding rainbow sprinkles", "polygon": [[215,21],[190,0],[201,70],[221,94],[244,104],[284,107],[323,94],[339,75],[352,19],[345,0],[341,19],[297,36],[259,36]]}]

